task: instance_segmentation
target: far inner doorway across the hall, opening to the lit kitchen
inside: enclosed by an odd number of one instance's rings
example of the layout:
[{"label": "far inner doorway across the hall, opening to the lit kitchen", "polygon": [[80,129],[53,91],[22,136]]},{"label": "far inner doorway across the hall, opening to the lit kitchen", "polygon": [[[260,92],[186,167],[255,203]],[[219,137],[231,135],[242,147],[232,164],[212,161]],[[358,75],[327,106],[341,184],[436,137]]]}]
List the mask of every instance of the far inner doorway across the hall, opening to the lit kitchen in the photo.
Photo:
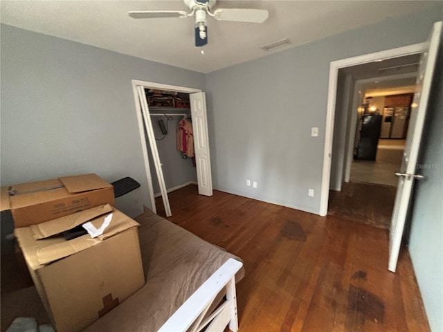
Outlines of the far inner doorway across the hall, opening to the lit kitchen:
[{"label": "far inner doorway across the hall, opening to the lit kitchen", "polygon": [[404,154],[419,57],[413,55],[395,61],[403,64],[389,68],[400,67],[409,72],[374,77],[358,84],[356,92],[361,103],[352,105],[354,109],[350,110],[356,113],[356,121],[347,135],[350,151],[345,160],[346,183],[397,187],[398,178],[394,174],[399,171]]}]

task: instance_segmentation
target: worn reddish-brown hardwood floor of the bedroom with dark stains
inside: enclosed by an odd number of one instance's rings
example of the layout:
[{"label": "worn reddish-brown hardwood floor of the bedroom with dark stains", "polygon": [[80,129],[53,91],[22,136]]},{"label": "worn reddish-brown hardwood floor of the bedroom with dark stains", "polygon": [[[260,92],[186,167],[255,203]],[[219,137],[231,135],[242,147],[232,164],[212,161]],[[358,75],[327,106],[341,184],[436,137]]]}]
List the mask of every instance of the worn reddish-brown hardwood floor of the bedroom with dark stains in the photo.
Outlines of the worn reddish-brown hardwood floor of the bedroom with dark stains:
[{"label": "worn reddish-brown hardwood floor of the bedroom with dark stains", "polygon": [[239,331],[430,331],[407,250],[387,269],[387,230],[195,185],[169,197],[170,221],[244,260]]}]

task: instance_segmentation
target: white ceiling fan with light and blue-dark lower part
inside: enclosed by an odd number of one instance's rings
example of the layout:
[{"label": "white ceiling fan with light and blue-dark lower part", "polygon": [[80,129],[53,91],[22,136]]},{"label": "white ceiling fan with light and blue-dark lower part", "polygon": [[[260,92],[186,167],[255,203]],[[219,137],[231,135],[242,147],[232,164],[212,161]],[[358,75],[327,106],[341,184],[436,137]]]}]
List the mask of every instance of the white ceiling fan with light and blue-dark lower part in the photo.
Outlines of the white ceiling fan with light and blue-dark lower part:
[{"label": "white ceiling fan with light and blue-dark lower part", "polygon": [[195,16],[195,46],[208,44],[206,15],[217,21],[236,21],[263,23],[268,18],[268,11],[246,8],[219,8],[211,12],[217,0],[183,0],[190,12],[184,10],[137,10],[128,12],[134,19],[180,18]]}]

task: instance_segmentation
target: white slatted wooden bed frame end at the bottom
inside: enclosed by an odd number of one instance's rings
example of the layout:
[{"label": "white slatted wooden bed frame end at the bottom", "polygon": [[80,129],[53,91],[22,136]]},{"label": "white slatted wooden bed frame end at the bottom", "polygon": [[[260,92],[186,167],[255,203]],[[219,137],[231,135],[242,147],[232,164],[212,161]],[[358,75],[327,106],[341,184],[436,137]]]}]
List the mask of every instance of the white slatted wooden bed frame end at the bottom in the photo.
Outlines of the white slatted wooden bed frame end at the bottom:
[{"label": "white slatted wooden bed frame end at the bottom", "polygon": [[[158,332],[199,332],[206,326],[205,331],[223,332],[228,325],[230,331],[237,332],[235,273],[242,266],[241,262],[228,259],[177,309]],[[226,291],[226,301],[204,320],[215,297],[223,288]]]}]

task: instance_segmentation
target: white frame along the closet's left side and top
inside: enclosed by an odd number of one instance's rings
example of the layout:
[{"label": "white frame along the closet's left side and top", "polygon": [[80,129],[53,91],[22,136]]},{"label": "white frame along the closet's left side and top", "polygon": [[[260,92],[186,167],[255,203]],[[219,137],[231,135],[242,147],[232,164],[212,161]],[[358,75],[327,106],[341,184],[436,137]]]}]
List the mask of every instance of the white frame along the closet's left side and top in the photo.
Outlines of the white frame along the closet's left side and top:
[{"label": "white frame along the closet's left side and top", "polygon": [[[137,86],[143,86],[145,89],[156,89],[156,90],[166,90],[166,91],[177,91],[181,93],[198,93],[203,92],[201,89],[195,89],[190,88],[186,86],[176,86],[176,85],[170,85],[170,84],[162,84],[162,83],[156,83],[156,82],[148,82],[148,81],[142,81],[142,80],[132,80],[132,91],[134,93],[134,102],[136,105],[136,116],[137,116],[137,122],[138,122],[138,131],[140,133],[140,140],[141,140],[141,147],[143,152],[143,162],[145,163],[145,175],[146,175],[146,181],[147,181],[147,187],[150,192],[150,203],[151,203],[151,210],[155,214],[157,213],[156,205],[155,205],[155,196],[154,196],[154,188],[152,186],[152,174],[150,169],[150,161],[147,154],[147,142],[145,138],[145,124],[143,122],[143,116],[142,116],[142,110],[140,106],[140,102],[138,102],[138,92],[137,92]],[[147,115],[150,116],[149,107],[147,110]],[[150,129],[146,129],[150,130]],[[152,130],[152,128],[151,128]],[[168,193],[165,193],[168,195]]]}]

